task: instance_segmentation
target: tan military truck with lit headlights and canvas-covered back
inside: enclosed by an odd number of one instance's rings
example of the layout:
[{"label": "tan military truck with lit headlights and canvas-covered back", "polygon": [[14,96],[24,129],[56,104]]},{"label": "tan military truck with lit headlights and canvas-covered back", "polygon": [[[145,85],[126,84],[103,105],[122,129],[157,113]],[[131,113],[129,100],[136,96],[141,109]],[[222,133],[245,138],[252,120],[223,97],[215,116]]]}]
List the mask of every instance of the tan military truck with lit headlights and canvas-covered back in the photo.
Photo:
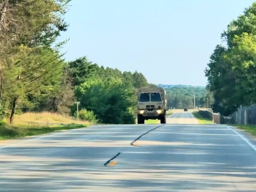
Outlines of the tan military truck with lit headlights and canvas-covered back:
[{"label": "tan military truck with lit headlights and canvas-covered back", "polygon": [[145,87],[138,89],[137,122],[158,119],[166,123],[166,91],[162,87]]}]

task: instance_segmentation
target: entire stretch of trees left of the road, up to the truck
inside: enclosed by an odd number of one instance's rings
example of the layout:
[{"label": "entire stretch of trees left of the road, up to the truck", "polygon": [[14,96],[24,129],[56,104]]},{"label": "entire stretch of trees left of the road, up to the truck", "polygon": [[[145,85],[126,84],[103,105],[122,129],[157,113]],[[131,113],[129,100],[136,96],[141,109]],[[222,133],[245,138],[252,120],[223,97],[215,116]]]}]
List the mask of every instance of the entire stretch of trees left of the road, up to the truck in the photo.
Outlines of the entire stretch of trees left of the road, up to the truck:
[{"label": "entire stretch of trees left of the road, up to the truck", "polygon": [[101,123],[134,123],[136,88],[149,86],[140,72],[121,72],[86,57],[66,62],[56,42],[68,29],[70,0],[0,3],[0,115],[35,111],[76,115]]}]

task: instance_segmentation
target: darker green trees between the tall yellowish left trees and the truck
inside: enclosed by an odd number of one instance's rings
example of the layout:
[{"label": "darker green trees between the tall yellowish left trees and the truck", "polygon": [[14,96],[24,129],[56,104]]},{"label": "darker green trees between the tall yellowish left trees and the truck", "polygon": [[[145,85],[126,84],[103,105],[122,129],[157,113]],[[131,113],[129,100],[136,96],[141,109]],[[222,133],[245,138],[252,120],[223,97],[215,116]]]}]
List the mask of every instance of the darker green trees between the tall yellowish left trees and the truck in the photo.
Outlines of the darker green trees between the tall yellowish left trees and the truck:
[{"label": "darker green trees between the tall yellowish left trees and the truck", "polygon": [[[71,61],[68,66],[73,79],[70,84],[74,87],[74,98],[81,102],[81,117],[109,124],[135,123],[136,89],[150,86],[142,73],[99,67],[86,57]],[[74,113],[76,107],[73,106],[71,114]]]}]

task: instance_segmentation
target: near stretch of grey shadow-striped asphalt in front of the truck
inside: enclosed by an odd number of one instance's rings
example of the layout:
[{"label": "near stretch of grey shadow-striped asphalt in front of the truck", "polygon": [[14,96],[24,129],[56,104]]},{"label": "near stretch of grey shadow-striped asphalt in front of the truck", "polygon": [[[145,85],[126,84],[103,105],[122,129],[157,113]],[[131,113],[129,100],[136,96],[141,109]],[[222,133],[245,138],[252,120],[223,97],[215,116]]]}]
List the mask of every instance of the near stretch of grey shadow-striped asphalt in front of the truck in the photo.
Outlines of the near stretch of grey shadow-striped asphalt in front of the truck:
[{"label": "near stretch of grey shadow-striped asphalt in front of the truck", "polygon": [[255,143],[224,125],[105,125],[3,141],[0,163],[1,192],[256,190]]}]

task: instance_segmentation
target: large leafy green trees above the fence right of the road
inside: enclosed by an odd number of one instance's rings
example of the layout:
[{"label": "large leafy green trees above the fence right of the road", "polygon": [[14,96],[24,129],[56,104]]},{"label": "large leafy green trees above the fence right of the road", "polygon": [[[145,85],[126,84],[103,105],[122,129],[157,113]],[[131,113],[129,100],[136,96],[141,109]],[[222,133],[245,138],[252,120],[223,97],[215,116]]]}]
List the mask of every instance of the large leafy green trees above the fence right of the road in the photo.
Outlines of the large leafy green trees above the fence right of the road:
[{"label": "large leafy green trees above the fence right of the road", "polygon": [[240,105],[256,102],[256,2],[244,9],[221,33],[227,45],[217,45],[205,69],[214,112],[230,115]]}]

